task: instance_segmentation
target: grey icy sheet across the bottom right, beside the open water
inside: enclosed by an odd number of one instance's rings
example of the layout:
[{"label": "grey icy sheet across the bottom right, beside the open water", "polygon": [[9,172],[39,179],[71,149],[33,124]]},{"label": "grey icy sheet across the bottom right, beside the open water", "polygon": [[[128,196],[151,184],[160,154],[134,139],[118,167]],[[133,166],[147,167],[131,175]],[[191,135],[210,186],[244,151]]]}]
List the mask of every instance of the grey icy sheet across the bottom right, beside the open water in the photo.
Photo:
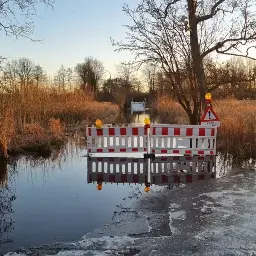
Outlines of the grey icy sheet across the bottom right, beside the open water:
[{"label": "grey icy sheet across the bottom right, beside the open water", "polygon": [[[24,255],[256,255],[256,173],[172,189],[135,190],[114,223],[81,241],[17,252]],[[109,199],[111,200],[111,199]],[[72,221],[72,219],[70,219]],[[9,253],[9,255],[13,255]]]}]

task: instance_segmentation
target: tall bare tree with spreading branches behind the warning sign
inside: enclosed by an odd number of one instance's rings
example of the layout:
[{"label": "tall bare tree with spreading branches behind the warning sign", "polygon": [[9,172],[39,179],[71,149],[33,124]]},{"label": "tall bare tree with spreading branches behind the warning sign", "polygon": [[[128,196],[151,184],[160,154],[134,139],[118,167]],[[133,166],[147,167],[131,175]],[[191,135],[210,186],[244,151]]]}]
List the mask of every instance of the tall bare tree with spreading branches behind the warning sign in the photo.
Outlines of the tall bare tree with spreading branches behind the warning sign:
[{"label": "tall bare tree with spreading branches behind the warning sign", "polygon": [[190,122],[198,123],[208,91],[204,59],[213,52],[252,58],[255,8],[254,0],[141,0],[123,7],[132,25],[127,40],[113,44],[131,51],[138,65],[159,63]]}]

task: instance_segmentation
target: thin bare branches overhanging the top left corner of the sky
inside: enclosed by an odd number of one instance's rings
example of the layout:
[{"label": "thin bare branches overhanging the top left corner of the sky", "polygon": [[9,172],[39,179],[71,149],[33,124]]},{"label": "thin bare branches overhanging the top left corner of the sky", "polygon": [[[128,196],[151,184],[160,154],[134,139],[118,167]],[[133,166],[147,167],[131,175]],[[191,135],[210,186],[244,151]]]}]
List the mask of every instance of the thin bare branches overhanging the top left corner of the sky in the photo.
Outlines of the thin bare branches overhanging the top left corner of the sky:
[{"label": "thin bare branches overhanging the top left corner of the sky", "polygon": [[39,3],[53,7],[54,0],[0,0],[0,30],[6,36],[30,38],[33,33],[31,18],[36,15]]}]

